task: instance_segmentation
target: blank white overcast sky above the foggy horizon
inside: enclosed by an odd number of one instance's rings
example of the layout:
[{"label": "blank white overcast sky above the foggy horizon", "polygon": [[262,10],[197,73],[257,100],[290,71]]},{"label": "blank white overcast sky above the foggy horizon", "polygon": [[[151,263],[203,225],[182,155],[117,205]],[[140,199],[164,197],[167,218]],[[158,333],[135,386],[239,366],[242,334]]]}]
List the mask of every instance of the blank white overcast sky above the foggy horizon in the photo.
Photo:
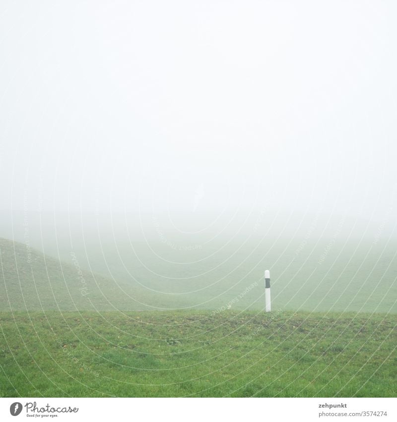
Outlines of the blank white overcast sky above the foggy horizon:
[{"label": "blank white overcast sky above the foggy horizon", "polygon": [[396,21],[395,1],[3,0],[1,209],[382,221]]}]

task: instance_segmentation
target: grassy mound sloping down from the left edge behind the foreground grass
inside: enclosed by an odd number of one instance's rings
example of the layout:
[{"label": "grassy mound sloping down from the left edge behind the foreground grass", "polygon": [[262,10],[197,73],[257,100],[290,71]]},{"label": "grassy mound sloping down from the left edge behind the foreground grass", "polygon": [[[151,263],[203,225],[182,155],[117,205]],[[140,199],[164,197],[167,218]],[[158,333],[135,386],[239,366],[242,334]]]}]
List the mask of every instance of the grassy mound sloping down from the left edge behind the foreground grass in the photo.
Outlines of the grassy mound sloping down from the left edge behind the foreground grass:
[{"label": "grassy mound sloping down from the left edge behind the foreground grass", "polygon": [[134,290],[101,275],[0,239],[0,310],[142,309]]}]

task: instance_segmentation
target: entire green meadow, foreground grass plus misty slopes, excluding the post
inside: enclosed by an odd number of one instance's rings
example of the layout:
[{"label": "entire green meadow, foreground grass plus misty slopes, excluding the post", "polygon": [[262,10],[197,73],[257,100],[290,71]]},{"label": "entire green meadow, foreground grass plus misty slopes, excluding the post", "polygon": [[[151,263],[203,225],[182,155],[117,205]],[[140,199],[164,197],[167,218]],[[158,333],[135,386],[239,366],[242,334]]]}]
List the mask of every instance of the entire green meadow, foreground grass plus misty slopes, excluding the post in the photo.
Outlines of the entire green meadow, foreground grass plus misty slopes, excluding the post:
[{"label": "entire green meadow, foreground grass plus misty slopes, excluding the post", "polygon": [[332,233],[0,239],[0,396],[395,397],[396,244]]}]

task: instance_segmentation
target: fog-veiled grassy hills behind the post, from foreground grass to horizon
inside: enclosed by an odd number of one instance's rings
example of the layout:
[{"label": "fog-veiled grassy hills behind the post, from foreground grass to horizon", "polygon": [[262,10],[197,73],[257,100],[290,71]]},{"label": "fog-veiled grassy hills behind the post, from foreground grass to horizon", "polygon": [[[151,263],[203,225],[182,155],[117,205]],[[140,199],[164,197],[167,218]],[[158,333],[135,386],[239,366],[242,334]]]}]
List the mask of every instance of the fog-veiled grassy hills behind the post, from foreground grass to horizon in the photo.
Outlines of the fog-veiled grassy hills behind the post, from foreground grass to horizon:
[{"label": "fog-veiled grassy hills behind the post, from foreground grass to horizon", "polygon": [[0,310],[259,311],[269,269],[277,309],[397,313],[397,241],[385,228],[259,214],[212,236],[181,234],[160,217],[141,229],[109,220],[32,217],[28,237],[14,223],[19,242],[0,239]]}]

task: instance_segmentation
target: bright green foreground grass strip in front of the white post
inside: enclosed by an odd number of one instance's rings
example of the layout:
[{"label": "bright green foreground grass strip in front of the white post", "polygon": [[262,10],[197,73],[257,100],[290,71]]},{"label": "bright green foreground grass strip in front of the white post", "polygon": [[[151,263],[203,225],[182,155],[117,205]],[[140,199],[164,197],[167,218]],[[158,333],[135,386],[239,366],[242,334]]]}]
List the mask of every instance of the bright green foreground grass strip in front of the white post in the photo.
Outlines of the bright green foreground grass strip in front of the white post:
[{"label": "bright green foreground grass strip in front of the white post", "polygon": [[396,397],[396,315],[2,312],[2,397]]}]

